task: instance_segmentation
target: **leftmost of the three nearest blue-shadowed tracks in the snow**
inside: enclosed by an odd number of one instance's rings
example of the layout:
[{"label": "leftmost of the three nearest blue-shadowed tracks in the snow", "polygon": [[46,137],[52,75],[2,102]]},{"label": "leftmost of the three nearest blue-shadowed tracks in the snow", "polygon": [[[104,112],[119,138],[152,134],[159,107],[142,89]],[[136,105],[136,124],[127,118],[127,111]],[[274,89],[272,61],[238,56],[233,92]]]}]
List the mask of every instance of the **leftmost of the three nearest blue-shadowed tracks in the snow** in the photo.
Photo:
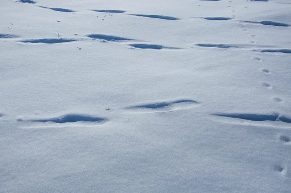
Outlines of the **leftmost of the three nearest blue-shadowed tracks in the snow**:
[{"label": "leftmost of the three nearest blue-shadowed tracks in the snow", "polygon": [[54,123],[74,123],[74,122],[98,122],[103,123],[107,119],[102,117],[96,117],[85,114],[64,114],[58,117],[53,118],[45,118],[45,119],[31,119],[31,120],[23,120],[17,119],[17,121],[28,121],[28,122],[54,122]]}]

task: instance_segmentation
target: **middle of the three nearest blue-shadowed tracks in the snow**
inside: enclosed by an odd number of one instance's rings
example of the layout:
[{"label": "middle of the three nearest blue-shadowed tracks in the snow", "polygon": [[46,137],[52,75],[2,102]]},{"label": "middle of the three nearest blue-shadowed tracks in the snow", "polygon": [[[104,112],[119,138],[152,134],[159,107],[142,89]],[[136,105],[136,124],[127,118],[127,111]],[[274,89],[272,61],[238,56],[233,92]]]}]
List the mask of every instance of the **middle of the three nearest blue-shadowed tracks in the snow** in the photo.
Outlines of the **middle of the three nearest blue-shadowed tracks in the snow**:
[{"label": "middle of the three nearest blue-shadowed tracks in the snow", "polygon": [[[181,106],[183,105],[184,107],[189,107],[192,105],[199,104],[199,102],[195,100],[189,100],[189,99],[181,99],[181,100],[175,100],[175,101],[170,101],[170,102],[155,102],[155,103],[145,103],[141,105],[134,105],[134,106],[129,106],[127,109],[166,109],[168,107],[172,107],[175,105]],[[186,108],[185,107],[185,108]]]}]

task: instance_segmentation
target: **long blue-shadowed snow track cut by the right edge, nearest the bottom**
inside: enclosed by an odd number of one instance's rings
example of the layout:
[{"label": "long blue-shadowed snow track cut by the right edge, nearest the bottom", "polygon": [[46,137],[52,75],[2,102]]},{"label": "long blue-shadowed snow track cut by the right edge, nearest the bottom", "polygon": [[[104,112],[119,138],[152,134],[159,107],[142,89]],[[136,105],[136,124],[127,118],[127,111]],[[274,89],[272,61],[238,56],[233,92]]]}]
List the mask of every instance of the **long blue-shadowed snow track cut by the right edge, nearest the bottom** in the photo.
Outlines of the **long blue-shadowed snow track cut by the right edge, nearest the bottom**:
[{"label": "long blue-shadowed snow track cut by the right edge, nearest the bottom", "polygon": [[252,113],[217,113],[216,116],[238,118],[249,121],[282,121],[284,123],[291,123],[291,119],[279,114],[252,114]]}]

